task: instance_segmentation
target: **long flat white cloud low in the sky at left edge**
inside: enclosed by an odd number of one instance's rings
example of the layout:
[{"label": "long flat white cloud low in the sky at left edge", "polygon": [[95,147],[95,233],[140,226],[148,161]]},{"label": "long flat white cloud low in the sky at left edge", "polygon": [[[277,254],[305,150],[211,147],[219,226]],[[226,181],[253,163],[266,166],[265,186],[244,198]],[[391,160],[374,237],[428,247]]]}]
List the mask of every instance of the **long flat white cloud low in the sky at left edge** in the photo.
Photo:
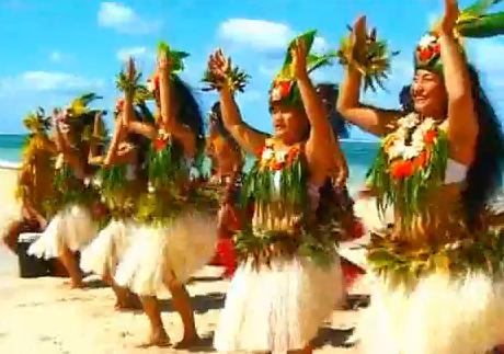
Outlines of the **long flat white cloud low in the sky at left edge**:
[{"label": "long flat white cloud low in the sky at left edge", "polygon": [[16,77],[0,79],[0,95],[15,92],[76,93],[103,88],[103,80],[56,71],[25,71]]}]

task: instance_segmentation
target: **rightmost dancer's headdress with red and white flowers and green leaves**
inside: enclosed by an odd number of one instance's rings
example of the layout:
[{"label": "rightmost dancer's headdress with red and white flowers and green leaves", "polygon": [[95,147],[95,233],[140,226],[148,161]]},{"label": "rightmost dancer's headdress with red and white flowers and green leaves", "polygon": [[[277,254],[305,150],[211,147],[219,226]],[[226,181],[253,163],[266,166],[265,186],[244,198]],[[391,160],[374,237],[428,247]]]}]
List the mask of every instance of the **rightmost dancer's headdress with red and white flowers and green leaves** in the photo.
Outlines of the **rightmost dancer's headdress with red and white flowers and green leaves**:
[{"label": "rightmost dancer's headdress with red and white flowers and green leaves", "polygon": [[[455,25],[455,36],[461,52],[463,37],[485,38],[504,34],[504,12],[486,13],[497,2],[501,0],[479,0],[460,12]],[[414,53],[414,64],[415,69],[443,71],[437,31],[431,31],[421,38]]]}]

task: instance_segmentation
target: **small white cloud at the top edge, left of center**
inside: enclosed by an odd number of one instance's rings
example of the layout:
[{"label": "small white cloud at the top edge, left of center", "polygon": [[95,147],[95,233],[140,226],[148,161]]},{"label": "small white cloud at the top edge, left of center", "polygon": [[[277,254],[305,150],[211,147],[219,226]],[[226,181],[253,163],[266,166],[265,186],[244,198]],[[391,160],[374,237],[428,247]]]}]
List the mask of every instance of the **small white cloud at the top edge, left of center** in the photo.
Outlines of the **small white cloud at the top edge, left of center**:
[{"label": "small white cloud at the top edge, left of center", "polygon": [[131,8],[119,2],[102,2],[98,23],[126,34],[147,34],[160,28],[161,22],[142,19]]}]

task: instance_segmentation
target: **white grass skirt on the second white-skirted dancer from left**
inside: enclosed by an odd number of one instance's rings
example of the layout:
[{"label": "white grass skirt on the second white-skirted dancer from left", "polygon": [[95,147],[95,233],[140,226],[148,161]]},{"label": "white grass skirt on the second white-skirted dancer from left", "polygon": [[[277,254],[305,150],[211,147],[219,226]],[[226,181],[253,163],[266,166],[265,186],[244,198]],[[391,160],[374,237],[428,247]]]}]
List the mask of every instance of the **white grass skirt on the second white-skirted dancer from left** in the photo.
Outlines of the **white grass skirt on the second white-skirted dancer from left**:
[{"label": "white grass skirt on the second white-skirted dancer from left", "polygon": [[80,267],[100,276],[114,275],[117,263],[130,244],[131,219],[112,219],[98,237],[82,251]]}]

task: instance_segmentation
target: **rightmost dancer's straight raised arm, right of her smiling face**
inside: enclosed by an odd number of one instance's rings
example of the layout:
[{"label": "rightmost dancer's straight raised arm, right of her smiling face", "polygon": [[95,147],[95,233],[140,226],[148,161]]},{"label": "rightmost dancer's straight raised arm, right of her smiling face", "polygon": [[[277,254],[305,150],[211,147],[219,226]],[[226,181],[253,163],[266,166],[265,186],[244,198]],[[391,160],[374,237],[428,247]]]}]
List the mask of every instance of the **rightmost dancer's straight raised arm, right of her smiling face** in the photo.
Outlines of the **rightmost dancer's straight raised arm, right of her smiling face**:
[{"label": "rightmost dancer's straight raised arm, right of her smiling face", "polygon": [[448,139],[450,156],[462,163],[471,163],[478,137],[469,70],[454,37],[459,15],[456,0],[445,0],[445,16],[439,26],[440,57],[448,94]]}]

